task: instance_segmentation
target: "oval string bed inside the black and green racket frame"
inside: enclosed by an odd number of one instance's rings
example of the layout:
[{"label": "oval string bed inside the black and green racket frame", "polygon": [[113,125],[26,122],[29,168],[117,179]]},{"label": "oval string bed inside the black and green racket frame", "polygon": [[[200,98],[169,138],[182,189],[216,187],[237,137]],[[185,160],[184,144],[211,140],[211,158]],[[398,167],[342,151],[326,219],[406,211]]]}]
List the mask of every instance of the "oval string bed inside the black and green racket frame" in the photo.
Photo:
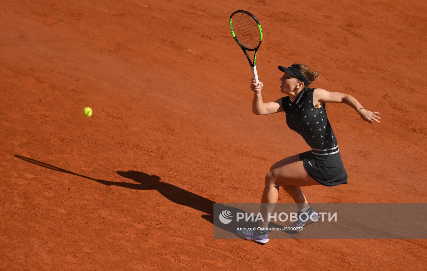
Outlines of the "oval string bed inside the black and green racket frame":
[{"label": "oval string bed inside the black and green racket frame", "polygon": [[231,18],[231,26],[237,40],[243,47],[255,49],[260,43],[260,29],[250,15],[242,12],[235,13]]}]

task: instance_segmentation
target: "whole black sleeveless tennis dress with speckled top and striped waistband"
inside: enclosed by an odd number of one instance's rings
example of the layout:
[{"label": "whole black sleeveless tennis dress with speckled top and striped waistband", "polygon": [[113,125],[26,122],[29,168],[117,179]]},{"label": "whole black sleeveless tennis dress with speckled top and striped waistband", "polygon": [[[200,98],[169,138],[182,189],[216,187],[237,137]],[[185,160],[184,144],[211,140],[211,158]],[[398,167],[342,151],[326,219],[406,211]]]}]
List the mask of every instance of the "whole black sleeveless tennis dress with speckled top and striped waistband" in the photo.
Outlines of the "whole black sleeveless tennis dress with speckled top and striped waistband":
[{"label": "whole black sleeveless tennis dress with speckled top and striped waistband", "polygon": [[282,98],[286,123],[304,138],[311,150],[299,154],[307,173],[324,186],[347,183],[347,172],[342,165],[338,143],[326,115],[326,104],[313,105],[315,88],[304,88],[295,100]]}]

